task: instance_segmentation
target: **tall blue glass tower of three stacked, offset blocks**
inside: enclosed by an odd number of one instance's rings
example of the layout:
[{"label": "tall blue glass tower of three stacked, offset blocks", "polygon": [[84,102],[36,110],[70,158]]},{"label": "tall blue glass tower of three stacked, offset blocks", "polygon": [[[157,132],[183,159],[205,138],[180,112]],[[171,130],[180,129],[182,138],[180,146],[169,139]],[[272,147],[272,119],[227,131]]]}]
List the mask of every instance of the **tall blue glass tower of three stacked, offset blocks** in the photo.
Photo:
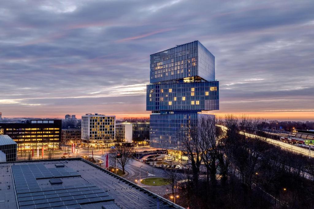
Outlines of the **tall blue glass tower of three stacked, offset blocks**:
[{"label": "tall blue glass tower of three stacked, offset blocks", "polygon": [[146,110],[152,111],[152,147],[180,149],[182,129],[210,116],[202,111],[219,110],[215,57],[199,41],[150,55],[150,83]]}]

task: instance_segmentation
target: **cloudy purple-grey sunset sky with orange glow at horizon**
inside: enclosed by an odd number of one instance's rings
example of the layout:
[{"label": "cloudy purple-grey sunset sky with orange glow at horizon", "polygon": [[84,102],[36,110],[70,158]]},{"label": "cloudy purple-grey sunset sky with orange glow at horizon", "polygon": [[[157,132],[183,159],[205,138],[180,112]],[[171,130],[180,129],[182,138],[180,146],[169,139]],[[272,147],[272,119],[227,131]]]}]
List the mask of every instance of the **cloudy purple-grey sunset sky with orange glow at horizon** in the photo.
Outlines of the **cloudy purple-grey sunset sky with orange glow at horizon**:
[{"label": "cloudy purple-grey sunset sky with orange glow at horizon", "polygon": [[199,40],[220,110],[314,120],[314,1],[2,0],[0,112],[149,116],[149,55]]}]

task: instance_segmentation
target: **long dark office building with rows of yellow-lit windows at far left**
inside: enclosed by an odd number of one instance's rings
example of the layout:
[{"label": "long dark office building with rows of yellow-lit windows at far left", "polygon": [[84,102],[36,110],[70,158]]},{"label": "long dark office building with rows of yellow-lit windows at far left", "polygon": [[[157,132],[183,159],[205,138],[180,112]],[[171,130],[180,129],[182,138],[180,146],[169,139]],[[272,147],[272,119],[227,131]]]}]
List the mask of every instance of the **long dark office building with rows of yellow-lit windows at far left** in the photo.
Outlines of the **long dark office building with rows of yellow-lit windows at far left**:
[{"label": "long dark office building with rows of yellow-lit windows at far left", "polygon": [[26,120],[23,123],[0,123],[0,133],[18,144],[18,151],[33,148],[58,150],[61,143],[61,120]]}]

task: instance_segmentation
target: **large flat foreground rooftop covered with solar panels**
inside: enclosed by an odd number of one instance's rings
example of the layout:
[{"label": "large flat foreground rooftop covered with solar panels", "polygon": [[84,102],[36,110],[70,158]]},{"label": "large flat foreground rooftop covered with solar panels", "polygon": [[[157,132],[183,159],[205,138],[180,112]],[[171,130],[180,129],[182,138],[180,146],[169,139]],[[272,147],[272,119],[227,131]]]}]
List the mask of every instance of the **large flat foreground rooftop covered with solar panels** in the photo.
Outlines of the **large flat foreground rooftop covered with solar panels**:
[{"label": "large flat foreground rooftop covered with solar panels", "polygon": [[151,209],[157,202],[182,208],[84,159],[0,163],[0,208]]}]

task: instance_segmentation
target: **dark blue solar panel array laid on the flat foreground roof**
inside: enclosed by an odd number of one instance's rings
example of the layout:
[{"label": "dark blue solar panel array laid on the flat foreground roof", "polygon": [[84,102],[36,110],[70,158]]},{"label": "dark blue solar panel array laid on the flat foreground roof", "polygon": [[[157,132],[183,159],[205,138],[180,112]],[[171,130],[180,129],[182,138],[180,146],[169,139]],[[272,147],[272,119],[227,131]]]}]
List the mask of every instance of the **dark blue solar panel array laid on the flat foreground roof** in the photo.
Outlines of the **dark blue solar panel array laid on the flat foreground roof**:
[{"label": "dark blue solar panel array laid on the flat foreground roof", "polygon": [[[20,209],[79,209],[80,204],[113,201],[107,192],[94,184],[40,188],[36,179],[78,176],[68,168],[47,169],[43,164],[12,165]],[[50,172],[50,173],[49,173]]]}]

